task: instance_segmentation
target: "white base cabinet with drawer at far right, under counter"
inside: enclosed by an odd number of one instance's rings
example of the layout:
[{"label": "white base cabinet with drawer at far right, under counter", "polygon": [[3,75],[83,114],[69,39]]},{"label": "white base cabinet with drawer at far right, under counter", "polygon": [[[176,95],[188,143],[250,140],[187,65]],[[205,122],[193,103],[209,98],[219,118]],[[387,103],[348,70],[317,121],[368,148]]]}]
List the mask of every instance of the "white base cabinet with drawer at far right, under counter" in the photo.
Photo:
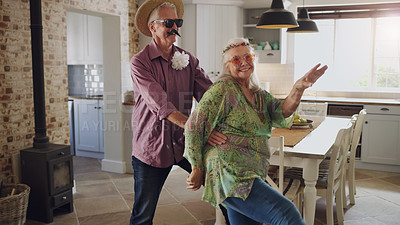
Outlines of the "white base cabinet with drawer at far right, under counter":
[{"label": "white base cabinet with drawer at far right, under counter", "polygon": [[365,105],[361,160],[400,165],[400,106]]}]

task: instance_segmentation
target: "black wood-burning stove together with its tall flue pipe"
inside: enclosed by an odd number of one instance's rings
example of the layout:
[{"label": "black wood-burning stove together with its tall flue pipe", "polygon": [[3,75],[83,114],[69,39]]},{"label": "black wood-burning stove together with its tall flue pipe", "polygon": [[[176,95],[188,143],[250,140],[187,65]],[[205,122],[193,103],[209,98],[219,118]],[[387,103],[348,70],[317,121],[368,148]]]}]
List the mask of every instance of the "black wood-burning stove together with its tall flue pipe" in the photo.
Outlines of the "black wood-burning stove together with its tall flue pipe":
[{"label": "black wood-burning stove together with its tall flue pipe", "polygon": [[30,0],[35,137],[20,151],[22,182],[30,186],[27,217],[46,223],[53,210],[73,211],[73,168],[69,145],[50,144],[46,135],[41,0]]}]

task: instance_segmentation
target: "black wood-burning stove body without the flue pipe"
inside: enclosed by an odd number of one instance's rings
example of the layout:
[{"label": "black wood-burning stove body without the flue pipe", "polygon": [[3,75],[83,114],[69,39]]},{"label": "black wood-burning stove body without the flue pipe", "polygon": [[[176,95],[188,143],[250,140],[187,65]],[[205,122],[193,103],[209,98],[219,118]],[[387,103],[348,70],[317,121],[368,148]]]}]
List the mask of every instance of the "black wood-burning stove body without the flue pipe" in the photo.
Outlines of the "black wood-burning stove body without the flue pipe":
[{"label": "black wood-burning stove body without the flue pipe", "polygon": [[50,223],[53,211],[73,211],[73,164],[70,147],[21,150],[22,182],[31,187],[27,218]]}]

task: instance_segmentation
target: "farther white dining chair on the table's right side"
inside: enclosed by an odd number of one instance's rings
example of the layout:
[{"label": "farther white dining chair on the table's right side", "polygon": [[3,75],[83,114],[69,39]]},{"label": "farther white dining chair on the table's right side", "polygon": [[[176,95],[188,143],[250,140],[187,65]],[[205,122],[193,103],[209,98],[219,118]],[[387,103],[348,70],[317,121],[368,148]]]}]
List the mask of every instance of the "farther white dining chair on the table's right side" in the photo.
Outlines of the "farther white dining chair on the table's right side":
[{"label": "farther white dining chair on the table's right side", "polygon": [[[346,180],[348,180],[348,187],[349,187],[349,198],[350,198],[350,204],[354,205],[356,204],[354,195],[356,194],[356,185],[355,185],[355,159],[356,159],[356,151],[357,151],[357,146],[358,143],[360,142],[360,137],[361,137],[361,131],[362,127],[364,124],[365,116],[367,115],[367,110],[362,109],[358,115],[354,115],[352,118],[352,122],[354,124],[354,129],[353,133],[351,135],[351,141],[350,141],[350,151],[347,156],[347,161],[345,164],[346,167],[346,173],[344,174],[344,181],[343,182],[343,191],[345,192],[345,187],[346,187]],[[354,121],[355,120],[355,121]],[[347,179],[346,179],[347,178]],[[346,194],[344,194],[346,197]],[[345,201],[346,204],[346,201]],[[345,205],[345,208],[347,207],[347,204]]]}]

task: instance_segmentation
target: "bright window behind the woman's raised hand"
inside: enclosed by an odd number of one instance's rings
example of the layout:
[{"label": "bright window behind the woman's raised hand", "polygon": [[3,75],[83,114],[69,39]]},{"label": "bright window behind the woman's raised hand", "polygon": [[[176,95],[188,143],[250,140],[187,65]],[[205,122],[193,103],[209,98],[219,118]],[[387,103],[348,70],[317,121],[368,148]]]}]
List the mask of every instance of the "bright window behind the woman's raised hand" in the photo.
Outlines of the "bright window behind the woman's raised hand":
[{"label": "bright window behind the woman's raised hand", "polygon": [[400,17],[314,20],[295,35],[295,79],[327,64],[315,91],[400,91]]}]

